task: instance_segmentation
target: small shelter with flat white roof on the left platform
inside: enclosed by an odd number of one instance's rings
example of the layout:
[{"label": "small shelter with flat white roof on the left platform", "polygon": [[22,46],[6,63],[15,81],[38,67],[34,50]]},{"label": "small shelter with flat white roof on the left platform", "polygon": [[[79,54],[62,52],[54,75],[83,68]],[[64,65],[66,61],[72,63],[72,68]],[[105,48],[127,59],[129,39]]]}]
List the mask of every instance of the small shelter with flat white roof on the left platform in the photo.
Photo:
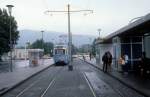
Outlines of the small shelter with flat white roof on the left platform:
[{"label": "small shelter with flat white roof on the left platform", "polygon": [[30,49],[28,51],[29,65],[32,67],[41,64],[40,59],[42,58],[43,53],[44,53],[43,49]]}]

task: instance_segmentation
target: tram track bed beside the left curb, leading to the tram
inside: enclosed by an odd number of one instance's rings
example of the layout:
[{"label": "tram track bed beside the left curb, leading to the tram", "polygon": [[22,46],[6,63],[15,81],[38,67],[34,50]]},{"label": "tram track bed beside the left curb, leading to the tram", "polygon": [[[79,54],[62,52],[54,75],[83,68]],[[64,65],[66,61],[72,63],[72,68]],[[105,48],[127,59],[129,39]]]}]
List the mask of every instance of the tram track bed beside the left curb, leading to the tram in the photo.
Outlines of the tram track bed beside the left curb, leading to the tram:
[{"label": "tram track bed beside the left curb, leading to the tram", "polygon": [[[49,70],[54,69],[54,68],[57,68],[57,69],[56,70],[52,70],[51,72],[49,72]],[[60,71],[63,68],[64,67],[54,67],[54,66],[50,67],[48,70],[43,71],[45,73],[41,72],[43,74],[41,74],[39,78],[34,79],[33,82],[29,81],[29,82],[27,82],[27,85],[23,85],[23,86],[19,85],[16,88],[10,90],[8,93],[3,94],[1,97],[27,97],[26,95],[28,93],[30,93],[31,90],[34,90],[37,86],[40,86],[40,84],[43,85],[43,83],[44,83],[45,88],[43,89],[43,87],[42,87],[41,90],[38,91],[38,93],[40,93],[38,95],[38,97],[43,97],[44,96],[43,94],[46,93],[48,87],[50,87],[50,84],[52,84],[54,82],[55,77],[60,73]],[[46,74],[48,72],[49,72],[48,75],[44,75],[44,74]],[[52,74],[52,72],[53,72],[53,74]],[[26,82],[24,82],[23,84],[25,84],[25,83]],[[22,87],[23,87],[23,89],[22,89]],[[38,88],[40,88],[40,87],[38,87]],[[19,90],[19,92],[18,92],[18,90]],[[30,96],[28,96],[28,97],[30,97]],[[37,96],[35,96],[35,97],[37,97]]]}]

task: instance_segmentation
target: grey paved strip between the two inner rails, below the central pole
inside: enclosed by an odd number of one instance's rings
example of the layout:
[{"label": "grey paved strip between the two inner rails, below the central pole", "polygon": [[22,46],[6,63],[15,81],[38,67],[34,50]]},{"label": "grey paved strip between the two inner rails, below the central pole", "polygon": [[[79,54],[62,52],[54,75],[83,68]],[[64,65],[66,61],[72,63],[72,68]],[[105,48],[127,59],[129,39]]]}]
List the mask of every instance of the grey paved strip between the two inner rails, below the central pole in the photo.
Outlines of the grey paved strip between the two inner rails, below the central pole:
[{"label": "grey paved strip between the two inner rails, below the central pole", "polygon": [[55,76],[40,97],[97,97],[82,72],[74,66]]}]

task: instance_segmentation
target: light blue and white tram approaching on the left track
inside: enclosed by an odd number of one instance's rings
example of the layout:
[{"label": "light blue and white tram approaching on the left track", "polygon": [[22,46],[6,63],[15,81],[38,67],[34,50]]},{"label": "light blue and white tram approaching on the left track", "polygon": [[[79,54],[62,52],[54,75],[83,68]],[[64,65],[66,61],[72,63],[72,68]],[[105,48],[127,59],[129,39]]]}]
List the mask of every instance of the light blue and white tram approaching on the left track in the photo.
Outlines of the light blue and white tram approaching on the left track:
[{"label": "light blue and white tram approaching on the left track", "polygon": [[68,64],[68,46],[67,45],[55,45],[53,50],[53,58],[55,65],[67,65]]}]

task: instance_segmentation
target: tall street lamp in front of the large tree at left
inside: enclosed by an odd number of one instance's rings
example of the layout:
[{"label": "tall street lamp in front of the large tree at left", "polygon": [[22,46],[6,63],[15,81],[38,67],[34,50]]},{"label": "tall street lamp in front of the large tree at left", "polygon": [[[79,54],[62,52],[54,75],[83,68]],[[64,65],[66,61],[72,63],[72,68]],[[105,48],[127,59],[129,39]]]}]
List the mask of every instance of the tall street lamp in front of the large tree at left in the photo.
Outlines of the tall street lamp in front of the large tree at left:
[{"label": "tall street lamp in front of the large tree at left", "polygon": [[11,13],[12,13],[12,8],[14,7],[13,5],[6,5],[6,7],[8,7],[8,12],[10,15],[10,28],[9,28],[9,41],[10,41],[10,65],[9,65],[9,69],[12,72],[12,33],[11,33]]}]

